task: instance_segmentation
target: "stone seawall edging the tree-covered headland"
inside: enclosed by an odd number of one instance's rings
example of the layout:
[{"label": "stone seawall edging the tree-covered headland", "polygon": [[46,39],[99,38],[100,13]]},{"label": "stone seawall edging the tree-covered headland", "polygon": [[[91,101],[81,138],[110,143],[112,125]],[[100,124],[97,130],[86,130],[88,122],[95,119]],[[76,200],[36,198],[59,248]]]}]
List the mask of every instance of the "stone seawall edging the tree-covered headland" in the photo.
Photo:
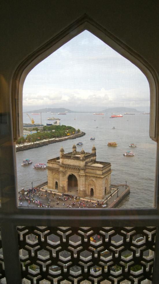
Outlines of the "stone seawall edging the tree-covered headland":
[{"label": "stone seawall edging the tree-covered headland", "polygon": [[25,150],[29,150],[29,149],[34,149],[34,148],[38,148],[38,147],[43,147],[43,146],[47,146],[49,144],[53,144],[53,143],[57,143],[57,142],[61,142],[61,141],[69,140],[69,139],[76,139],[76,138],[82,137],[84,135],[86,135],[85,132],[80,132],[78,134],[73,134],[73,135],[71,135],[69,137],[62,137],[62,138],[50,139],[50,140],[42,140],[41,142],[34,142],[34,143],[24,144],[22,146],[16,147],[16,152],[25,151]]}]

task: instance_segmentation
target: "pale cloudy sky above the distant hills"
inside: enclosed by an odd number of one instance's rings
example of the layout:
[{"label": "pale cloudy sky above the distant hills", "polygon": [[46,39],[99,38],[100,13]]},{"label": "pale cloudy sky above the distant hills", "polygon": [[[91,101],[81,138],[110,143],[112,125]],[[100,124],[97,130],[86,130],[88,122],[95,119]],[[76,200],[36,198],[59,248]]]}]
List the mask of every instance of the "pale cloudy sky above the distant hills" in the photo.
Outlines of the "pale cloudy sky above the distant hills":
[{"label": "pale cloudy sky above the distant hills", "polygon": [[36,65],[23,86],[23,111],[69,108],[149,111],[149,83],[134,64],[85,30]]}]

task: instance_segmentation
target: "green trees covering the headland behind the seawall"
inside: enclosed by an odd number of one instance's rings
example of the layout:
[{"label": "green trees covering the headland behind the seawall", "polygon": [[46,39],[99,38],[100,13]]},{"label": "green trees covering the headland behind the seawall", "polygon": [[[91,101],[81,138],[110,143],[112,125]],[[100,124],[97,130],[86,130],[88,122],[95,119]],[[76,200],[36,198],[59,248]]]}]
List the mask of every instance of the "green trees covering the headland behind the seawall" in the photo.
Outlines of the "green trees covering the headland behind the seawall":
[{"label": "green trees covering the headland behind the seawall", "polygon": [[51,125],[51,126],[44,126],[43,131],[38,131],[38,128],[34,128],[33,131],[37,131],[37,133],[28,134],[26,138],[23,136],[20,137],[16,144],[24,144],[26,142],[36,142],[36,141],[42,141],[45,139],[51,139],[51,138],[61,138],[66,137],[75,133],[79,133],[79,129],[75,129],[72,126],[66,126],[66,125]]}]

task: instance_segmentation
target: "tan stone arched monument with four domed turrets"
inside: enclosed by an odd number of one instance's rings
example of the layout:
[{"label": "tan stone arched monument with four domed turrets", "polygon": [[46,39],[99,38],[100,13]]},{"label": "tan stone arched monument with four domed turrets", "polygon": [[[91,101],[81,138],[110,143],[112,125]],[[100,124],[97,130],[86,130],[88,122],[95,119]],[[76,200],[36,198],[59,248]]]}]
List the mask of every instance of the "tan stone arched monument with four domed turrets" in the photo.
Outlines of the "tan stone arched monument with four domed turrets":
[{"label": "tan stone arched monument with four domed turrets", "polygon": [[75,144],[72,152],[47,161],[48,188],[58,193],[66,193],[82,198],[94,197],[98,200],[110,193],[111,164],[96,161],[96,148],[92,152],[77,151]]}]

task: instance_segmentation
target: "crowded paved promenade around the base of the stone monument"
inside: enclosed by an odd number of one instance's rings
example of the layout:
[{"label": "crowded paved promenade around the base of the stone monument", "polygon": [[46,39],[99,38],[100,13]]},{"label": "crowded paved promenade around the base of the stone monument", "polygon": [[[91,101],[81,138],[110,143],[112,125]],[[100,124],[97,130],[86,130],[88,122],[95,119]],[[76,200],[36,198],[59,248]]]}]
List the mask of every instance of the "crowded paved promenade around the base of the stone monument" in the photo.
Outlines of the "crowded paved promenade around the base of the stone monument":
[{"label": "crowded paved promenade around the base of the stone monument", "polygon": [[[97,200],[93,197],[86,196],[85,198],[79,198],[77,193],[73,191],[67,192],[64,195],[58,193],[57,190],[50,190],[47,188],[47,184],[38,185],[39,191],[30,190],[30,193],[25,195],[25,199],[19,199],[19,205],[23,207],[45,207],[45,208],[115,208],[119,203],[130,193],[130,187],[125,184],[111,185],[111,193],[105,196],[103,200]],[[19,196],[23,196],[19,193]],[[28,196],[30,196],[30,202],[28,202]],[[40,201],[43,206],[39,206]]]}]

